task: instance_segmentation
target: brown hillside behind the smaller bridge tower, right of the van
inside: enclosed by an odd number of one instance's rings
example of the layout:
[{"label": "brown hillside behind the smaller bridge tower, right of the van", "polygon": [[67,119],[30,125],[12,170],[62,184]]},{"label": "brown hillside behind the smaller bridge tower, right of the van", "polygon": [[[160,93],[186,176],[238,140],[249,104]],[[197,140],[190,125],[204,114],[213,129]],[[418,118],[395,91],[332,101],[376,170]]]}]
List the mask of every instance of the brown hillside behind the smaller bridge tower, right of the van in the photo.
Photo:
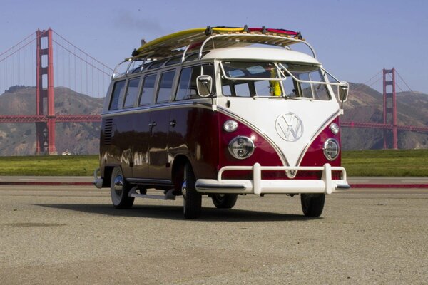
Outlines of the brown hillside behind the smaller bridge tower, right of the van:
[{"label": "brown hillside behind the smaller bridge tower, right of the van", "polygon": [[[344,104],[344,109],[342,121],[383,123],[383,95],[369,86],[350,83],[350,97]],[[397,124],[428,127],[428,95],[397,93]],[[389,143],[392,145],[392,142]],[[342,146],[345,150],[381,149],[383,130],[342,128]],[[428,133],[399,131],[398,147],[428,148]]]}]

